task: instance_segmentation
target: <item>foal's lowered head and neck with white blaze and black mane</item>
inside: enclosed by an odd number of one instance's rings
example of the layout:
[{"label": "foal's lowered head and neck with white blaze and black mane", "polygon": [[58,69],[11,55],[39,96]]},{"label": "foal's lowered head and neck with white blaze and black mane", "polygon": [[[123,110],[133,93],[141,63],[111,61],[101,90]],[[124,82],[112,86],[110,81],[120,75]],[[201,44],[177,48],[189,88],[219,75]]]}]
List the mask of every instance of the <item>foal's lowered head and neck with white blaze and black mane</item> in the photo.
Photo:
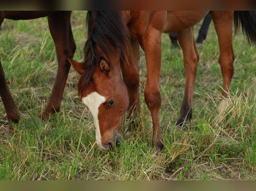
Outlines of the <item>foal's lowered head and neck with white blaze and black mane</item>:
[{"label": "foal's lowered head and neck with white blaze and black mane", "polygon": [[120,66],[129,49],[129,31],[118,12],[105,14],[109,12],[88,13],[84,61],[69,60],[81,74],[78,92],[93,116],[98,147],[108,151],[121,144],[123,115],[129,104]]}]

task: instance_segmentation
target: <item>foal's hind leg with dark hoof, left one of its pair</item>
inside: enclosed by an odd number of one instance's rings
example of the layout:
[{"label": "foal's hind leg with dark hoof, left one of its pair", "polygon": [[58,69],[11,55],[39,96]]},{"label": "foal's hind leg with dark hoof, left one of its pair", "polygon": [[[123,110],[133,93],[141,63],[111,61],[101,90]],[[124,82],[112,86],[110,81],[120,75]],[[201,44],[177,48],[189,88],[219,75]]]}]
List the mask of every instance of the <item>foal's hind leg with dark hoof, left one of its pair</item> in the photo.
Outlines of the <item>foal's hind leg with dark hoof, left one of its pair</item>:
[{"label": "foal's hind leg with dark hoof, left one of its pair", "polygon": [[183,52],[183,61],[186,71],[184,98],[180,109],[180,117],[175,125],[183,127],[184,122],[192,117],[192,99],[196,80],[199,54],[193,37],[193,28],[177,32],[179,44]]}]

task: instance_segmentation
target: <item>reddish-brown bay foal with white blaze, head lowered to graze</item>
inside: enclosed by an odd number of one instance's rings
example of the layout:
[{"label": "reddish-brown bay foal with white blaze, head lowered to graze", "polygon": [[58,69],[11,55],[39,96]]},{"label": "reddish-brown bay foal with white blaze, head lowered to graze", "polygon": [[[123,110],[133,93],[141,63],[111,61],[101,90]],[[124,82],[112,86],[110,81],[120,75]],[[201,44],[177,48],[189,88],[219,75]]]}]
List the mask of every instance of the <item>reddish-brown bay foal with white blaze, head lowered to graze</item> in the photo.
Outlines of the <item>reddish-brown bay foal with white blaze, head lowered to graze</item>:
[{"label": "reddish-brown bay foal with white blaze, head lowered to graze", "polygon": [[[99,148],[108,151],[119,145],[123,114],[140,111],[139,104],[139,46],[145,52],[147,80],[144,100],[150,110],[153,135],[152,146],[160,151],[163,138],[159,126],[161,96],[159,76],[161,67],[161,33],[177,32],[183,51],[186,82],[177,126],[183,126],[192,116],[192,98],[199,54],[193,26],[209,11],[89,11],[88,40],[83,63],[69,59],[81,77],[78,92],[92,113]],[[232,48],[233,17],[239,19],[247,38],[256,42],[255,12],[211,11],[218,35],[219,64],[223,76],[223,97],[227,96],[233,76]],[[122,78],[123,77],[123,78]],[[129,127],[131,128],[131,127]],[[128,129],[130,130],[130,129]]]}]

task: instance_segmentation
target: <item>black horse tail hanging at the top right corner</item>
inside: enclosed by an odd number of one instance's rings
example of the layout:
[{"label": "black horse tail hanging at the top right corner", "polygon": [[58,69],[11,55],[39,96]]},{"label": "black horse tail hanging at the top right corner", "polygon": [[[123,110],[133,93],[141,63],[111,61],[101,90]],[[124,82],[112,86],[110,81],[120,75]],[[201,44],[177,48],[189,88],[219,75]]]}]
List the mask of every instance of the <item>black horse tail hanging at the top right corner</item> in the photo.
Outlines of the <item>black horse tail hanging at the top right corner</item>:
[{"label": "black horse tail hanging at the top right corner", "polygon": [[256,11],[234,11],[235,33],[242,26],[249,44],[256,45]]}]

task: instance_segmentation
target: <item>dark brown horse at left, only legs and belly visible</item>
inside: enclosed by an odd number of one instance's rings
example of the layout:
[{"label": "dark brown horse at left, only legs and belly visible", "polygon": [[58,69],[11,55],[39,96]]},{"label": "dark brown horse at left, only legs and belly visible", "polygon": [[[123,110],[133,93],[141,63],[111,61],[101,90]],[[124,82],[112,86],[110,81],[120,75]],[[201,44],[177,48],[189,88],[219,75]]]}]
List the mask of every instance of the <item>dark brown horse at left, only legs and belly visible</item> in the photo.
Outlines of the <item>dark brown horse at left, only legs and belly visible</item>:
[{"label": "dark brown horse at left, only legs and belly visible", "polygon": [[[68,57],[73,58],[76,50],[70,23],[71,11],[0,11],[0,26],[4,19],[27,20],[46,16],[48,18],[49,30],[56,47],[58,69],[48,103],[43,112],[39,114],[39,118],[42,120],[45,120],[50,114],[60,109],[61,98],[71,67]],[[12,123],[18,123],[19,112],[8,89],[1,62],[0,95],[4,103],[7,119]],[[9,126],[9,133],[12,132],[13,127]]]}]

